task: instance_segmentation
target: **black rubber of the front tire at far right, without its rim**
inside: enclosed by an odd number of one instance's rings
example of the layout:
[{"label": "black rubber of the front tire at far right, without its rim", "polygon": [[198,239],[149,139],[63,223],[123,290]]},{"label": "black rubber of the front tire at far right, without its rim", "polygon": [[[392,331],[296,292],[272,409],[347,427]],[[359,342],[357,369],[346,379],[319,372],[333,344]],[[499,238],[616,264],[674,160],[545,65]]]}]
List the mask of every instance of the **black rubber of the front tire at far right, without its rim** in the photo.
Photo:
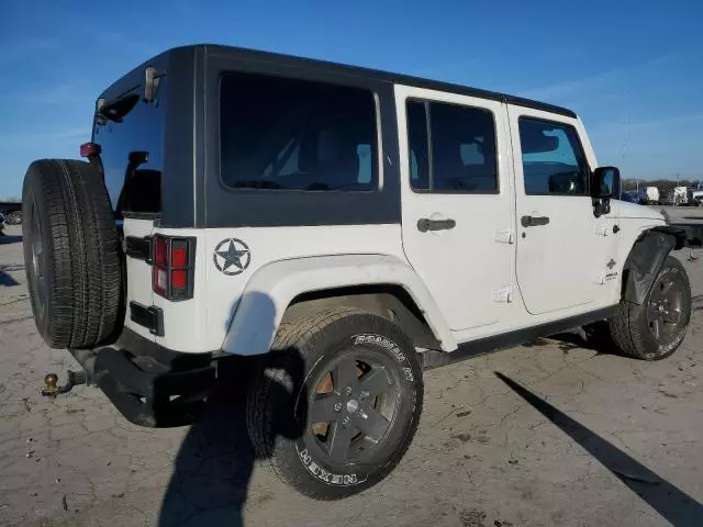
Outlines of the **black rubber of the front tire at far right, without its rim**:
[{"label": "black rubber of the front tire at far right, without its rim", "polygon": [[[655,288],[665,279],[674,280],[681,288],[679,321],[672,335],[657,339],[650,329],[647,309]],[[667,257],[654,285],[641,305],[621,301],[617,313],[607,322],[615,346],[625,355],[643,360],[661,360],[673,354],[685,337],[691,319],[691,284],[685,269],[672,256]]]}]

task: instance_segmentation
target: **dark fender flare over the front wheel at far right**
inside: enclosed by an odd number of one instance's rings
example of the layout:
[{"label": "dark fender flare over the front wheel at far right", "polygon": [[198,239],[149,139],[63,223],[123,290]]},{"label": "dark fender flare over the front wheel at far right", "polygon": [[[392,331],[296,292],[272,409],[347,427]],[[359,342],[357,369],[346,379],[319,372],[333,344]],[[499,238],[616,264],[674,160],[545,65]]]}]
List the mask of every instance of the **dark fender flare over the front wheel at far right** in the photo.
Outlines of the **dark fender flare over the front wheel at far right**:
[{"label": "dark fender flare over the front wheel at far right", "polygon": [[665,260],[685,246],[685,229],[662,225],[645,231],[635,240],[623,269],[623,300],[641,305]]}]

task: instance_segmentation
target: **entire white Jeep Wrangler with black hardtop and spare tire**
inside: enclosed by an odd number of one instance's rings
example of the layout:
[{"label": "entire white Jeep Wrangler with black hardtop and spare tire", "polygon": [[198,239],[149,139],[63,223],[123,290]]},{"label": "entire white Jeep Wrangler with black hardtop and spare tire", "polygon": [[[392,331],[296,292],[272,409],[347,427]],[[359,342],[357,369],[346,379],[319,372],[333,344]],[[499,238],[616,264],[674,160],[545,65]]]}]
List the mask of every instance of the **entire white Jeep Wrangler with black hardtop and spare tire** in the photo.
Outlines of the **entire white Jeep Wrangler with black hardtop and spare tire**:
[{"label": "entire white Jeep Wrangler with black hardtop and spare tire", "polygon": [[252,441],[317,498],[398,464],[423,368],[599,321],[647,360],[687,333],[684,233],[618,200],[562,108],[199,45],[108,88],[80,152],[24,180],[42,337],[145,426],[256,357]]}]

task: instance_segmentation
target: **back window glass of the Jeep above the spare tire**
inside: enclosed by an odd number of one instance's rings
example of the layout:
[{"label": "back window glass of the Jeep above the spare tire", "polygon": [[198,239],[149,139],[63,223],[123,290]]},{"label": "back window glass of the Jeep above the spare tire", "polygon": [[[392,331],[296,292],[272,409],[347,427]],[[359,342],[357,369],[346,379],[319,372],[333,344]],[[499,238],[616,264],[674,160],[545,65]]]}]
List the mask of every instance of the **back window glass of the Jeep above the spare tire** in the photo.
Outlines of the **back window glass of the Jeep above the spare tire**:
[{"label": "back window glass of the Jeep above the spare tire", "polygon": [[102,150],[105,186],[115,212],[161,212],[165,85],[164,77],[150,103],[143,101],[140,87],[107,101],[96,116],[93,142]]}]

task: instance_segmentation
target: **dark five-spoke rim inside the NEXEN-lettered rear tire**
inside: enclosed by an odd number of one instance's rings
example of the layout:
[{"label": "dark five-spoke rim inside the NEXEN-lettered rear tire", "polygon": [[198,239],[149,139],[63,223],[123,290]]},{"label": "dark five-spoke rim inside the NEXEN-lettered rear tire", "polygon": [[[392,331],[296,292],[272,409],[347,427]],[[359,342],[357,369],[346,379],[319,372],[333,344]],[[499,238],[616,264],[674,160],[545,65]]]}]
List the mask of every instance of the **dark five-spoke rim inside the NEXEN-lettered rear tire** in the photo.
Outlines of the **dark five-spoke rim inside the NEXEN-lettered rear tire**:
[{"label": "dark five-spoke rim inside the NEXEN-lettered rear tire", "polygon": [[306,441],[335,464],[369,462],[398,421],[400,377],[373,351],[342,351],[309,384]]}]

